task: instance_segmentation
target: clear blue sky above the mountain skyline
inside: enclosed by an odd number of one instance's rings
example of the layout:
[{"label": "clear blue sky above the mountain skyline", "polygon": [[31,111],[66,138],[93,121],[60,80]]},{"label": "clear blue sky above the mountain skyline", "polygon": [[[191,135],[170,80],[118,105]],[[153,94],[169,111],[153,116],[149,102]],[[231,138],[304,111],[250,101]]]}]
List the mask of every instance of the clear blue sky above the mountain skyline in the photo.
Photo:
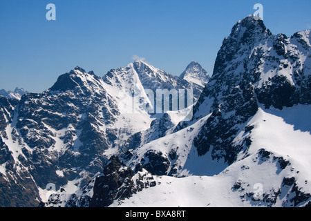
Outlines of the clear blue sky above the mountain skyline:
[{"label": "clear blue sky above the mountain skyline", "polygon": [[[56,21],[46,20],[46,5]],[[223,39],[263,5],[273,34],[311,28],[311,1],[0,0],[0,89],[41,93],[81,66],[103,76],[137,55],[180,75],[190,61],[212,73]]]}]

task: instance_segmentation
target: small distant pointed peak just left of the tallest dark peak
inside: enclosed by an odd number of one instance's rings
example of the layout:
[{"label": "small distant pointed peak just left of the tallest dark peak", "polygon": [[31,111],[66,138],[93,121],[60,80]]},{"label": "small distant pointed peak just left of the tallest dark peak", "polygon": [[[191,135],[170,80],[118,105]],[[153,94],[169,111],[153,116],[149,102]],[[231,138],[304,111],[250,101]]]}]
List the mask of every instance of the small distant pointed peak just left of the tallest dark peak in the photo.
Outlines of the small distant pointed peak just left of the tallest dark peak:
[{"label": "small distant pointed peak just left of the tallest dark peak", "polygon": [[191,61],[184,72],[180,75],[180,78],[185,79],[189,83],[198,84],[204,88],[210,77],[207,71],[202,68],[197,61]]}]

